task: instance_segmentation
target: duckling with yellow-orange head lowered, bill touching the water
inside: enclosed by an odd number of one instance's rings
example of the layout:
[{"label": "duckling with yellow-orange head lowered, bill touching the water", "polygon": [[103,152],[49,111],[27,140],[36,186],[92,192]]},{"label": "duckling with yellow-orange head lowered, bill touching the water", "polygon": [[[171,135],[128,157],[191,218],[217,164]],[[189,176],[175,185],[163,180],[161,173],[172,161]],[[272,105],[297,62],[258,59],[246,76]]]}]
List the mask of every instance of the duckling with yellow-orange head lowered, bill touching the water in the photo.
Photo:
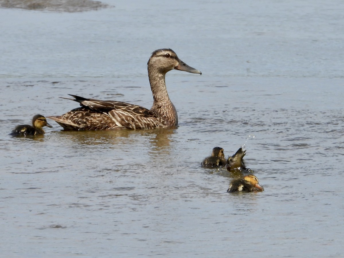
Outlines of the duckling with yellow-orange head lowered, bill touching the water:
[{"label": "duckling with yellow-orange head lowered, bill touching the water", "polygon": [[251,174],[241,178],[233,179],[232,182],[230,182],[227,193],[261,191],[264,191],[263,186],[258,183],[258,178]]}]

